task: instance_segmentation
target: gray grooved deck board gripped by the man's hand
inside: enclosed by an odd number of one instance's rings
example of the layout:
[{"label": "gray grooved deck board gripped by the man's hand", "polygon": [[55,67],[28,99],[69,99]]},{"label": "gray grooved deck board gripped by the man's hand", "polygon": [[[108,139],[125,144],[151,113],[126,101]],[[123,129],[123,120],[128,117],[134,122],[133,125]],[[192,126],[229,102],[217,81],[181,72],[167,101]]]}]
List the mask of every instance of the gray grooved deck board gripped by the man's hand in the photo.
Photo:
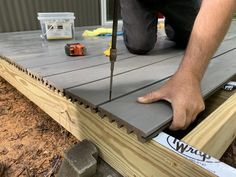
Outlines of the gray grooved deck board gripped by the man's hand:
[{"label": "gray grooved deck board gripped by the man's hand", "polygon": [[[201,82],[204,97],[212,94],[229,78],[236,73],[236,50],[221,55],[212,60]],[[224,69],[225,68],[225,69]],[[227,69],[226,69],[227,68]],[[156,102],[153,104],[139,104],[137,97],[150,91],[159,89],[165,81],[149,86],[145,89],[131,93],[122,98],[99,106],[99,110],[126,125],[130,131],[135,131],[140,138],[151,138],[162,127],[172,120],[172,109],[169,104]],[[174,89],[174,88],[173,88]]]}]

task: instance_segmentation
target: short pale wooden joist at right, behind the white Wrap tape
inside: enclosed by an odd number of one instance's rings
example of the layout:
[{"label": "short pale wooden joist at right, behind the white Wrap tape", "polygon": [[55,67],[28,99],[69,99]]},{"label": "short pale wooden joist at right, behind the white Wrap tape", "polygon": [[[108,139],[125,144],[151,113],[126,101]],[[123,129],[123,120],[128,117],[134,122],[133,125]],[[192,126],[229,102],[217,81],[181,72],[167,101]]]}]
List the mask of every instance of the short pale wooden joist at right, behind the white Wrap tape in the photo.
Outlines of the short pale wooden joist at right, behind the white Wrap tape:
[{"label": "short pale wooden joist at right, behind the white Wrap tape", "polygon": [[182,140],[219,159],[236,137],[236,93]]}]

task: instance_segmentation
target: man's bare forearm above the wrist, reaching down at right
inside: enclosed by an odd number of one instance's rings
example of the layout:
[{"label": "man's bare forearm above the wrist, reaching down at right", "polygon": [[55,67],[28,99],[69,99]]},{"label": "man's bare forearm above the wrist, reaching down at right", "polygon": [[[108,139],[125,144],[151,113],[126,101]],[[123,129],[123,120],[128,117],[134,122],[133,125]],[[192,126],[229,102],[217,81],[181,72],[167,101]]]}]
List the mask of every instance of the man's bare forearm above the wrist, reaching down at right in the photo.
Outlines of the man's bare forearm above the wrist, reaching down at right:
[{"label": "man's bare forearm above the wrist, reaching down at right", "polygon": [[203,0],[179,71],[192,74],[199,81],[202,79],[210,58],[229,28],[235,9],[236,0]]}]

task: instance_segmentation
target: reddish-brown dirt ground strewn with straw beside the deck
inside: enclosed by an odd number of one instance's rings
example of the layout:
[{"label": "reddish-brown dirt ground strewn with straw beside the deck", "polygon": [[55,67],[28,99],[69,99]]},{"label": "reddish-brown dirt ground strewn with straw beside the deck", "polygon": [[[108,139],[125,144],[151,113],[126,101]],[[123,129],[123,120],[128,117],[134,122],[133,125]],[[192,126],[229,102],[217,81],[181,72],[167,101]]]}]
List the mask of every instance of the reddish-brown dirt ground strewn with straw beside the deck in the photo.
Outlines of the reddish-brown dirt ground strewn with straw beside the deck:
[{"label": "reddish-brown dirt ground strewn with straw beside the deck", "polygon": [[[77,142],[0,77],[0,177],[53,177]],[[236,141],[221,160],[236,167]]]}]

